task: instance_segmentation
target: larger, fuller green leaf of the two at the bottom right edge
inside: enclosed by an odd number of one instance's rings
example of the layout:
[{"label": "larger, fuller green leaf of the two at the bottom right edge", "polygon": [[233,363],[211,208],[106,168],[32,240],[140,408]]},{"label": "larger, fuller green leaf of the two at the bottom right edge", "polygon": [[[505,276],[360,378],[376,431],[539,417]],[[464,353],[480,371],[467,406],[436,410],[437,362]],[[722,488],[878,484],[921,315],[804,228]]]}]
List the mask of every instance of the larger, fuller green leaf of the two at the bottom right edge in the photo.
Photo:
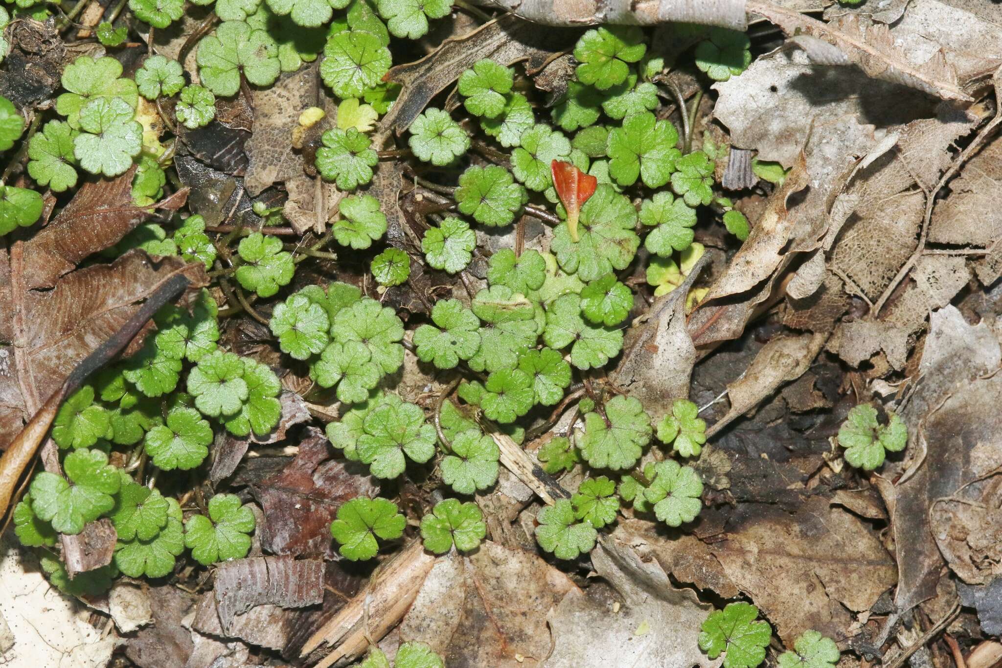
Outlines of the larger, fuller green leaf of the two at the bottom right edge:
[{"label": "larger, fuller green leaf of the two at the bottom right edge", "polygon": [[724,668],[755,668],[766,660],[773,635],[769,622],[756,621],[759,608],[750,603],[728,603],[711,612],[699,632],[699,649],[710,659],[723,657]]}]

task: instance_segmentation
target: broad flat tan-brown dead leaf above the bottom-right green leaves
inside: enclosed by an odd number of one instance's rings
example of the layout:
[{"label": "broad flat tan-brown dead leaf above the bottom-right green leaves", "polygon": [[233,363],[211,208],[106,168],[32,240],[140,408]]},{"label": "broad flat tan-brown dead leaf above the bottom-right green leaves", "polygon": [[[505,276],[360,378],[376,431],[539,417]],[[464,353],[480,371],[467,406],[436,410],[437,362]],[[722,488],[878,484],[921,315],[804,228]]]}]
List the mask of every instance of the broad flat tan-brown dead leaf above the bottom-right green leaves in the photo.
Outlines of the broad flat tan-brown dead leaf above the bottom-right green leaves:
[{"label": "broad flat tan-brown dead leaf above the bottom-right green leaves", "polygon": [[724,535],[710,551],[788,644],[808,629],[845,640],[854,621],[847,609],[869,610],[897,581],[877,533],[822,497],[794,515],[738,506]]}]

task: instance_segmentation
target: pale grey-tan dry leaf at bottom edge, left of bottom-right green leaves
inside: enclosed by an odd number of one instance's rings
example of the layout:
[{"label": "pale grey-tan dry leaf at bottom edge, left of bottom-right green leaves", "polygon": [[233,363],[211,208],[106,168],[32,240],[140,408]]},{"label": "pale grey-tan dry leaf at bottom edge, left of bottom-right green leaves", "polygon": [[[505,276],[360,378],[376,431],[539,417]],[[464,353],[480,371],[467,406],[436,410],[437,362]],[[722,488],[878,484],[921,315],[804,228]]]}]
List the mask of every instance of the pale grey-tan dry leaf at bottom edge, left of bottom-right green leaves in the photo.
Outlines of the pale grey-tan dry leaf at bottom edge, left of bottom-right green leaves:
[{"label": "pale grey-tan dry leaf at bottom edge, left of bottom-right green leaves", "polygon": [[[573,589],[550,615],[553,652],[545,668],[717,665],[693,640],[713,607],[688,589],[675,589],[656,561],[644,562],[627,544],[602,538],[591,552],[595,572],[616,592],[593,585]],[[621,608],[613,609],[618,599]]]}]

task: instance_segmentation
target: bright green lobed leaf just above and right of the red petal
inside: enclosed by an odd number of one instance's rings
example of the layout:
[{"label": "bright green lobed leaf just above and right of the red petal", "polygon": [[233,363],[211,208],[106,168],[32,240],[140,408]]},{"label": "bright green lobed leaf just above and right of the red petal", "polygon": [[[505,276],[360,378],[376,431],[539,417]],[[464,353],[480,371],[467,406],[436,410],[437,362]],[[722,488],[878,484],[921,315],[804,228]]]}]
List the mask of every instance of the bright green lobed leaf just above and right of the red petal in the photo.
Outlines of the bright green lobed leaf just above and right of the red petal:
[{"label": "bright green lobed leaf just above and right of the red petal", "polygon": [[627,116],[622,127],[609,130],[609,174],[620,185],[632,185],[639,176],[644,185],[660,187],[671,178],[680,159],[677,142],[678,133],[670,121],[657,120],[646,111]]}]

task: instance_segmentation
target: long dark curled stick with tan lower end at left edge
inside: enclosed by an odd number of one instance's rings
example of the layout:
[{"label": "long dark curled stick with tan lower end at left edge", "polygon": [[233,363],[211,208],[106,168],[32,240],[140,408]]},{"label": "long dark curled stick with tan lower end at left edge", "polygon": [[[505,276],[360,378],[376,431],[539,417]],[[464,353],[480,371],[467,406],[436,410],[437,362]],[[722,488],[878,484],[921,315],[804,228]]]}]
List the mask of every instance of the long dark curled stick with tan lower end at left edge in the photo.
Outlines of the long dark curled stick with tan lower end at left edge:
[{"label": "long dark curled stick with tan lower end at left edge", "polygon": [[0,458],[0,517],[7,513],[14,489],[21,474],[35,457],[38,446],[49,431],[59,405],[67,396],[76,392],[88,376],[110,362],[122,351],[135,335],[168,301],[174,300],[190,284],[187,276],[178,273],[168,278],[153,292],[139,309],[126,320],[118,331],[84,358],[66,377],[62,386],[53,392],[45,404],[31,417],[28,424]]}]

